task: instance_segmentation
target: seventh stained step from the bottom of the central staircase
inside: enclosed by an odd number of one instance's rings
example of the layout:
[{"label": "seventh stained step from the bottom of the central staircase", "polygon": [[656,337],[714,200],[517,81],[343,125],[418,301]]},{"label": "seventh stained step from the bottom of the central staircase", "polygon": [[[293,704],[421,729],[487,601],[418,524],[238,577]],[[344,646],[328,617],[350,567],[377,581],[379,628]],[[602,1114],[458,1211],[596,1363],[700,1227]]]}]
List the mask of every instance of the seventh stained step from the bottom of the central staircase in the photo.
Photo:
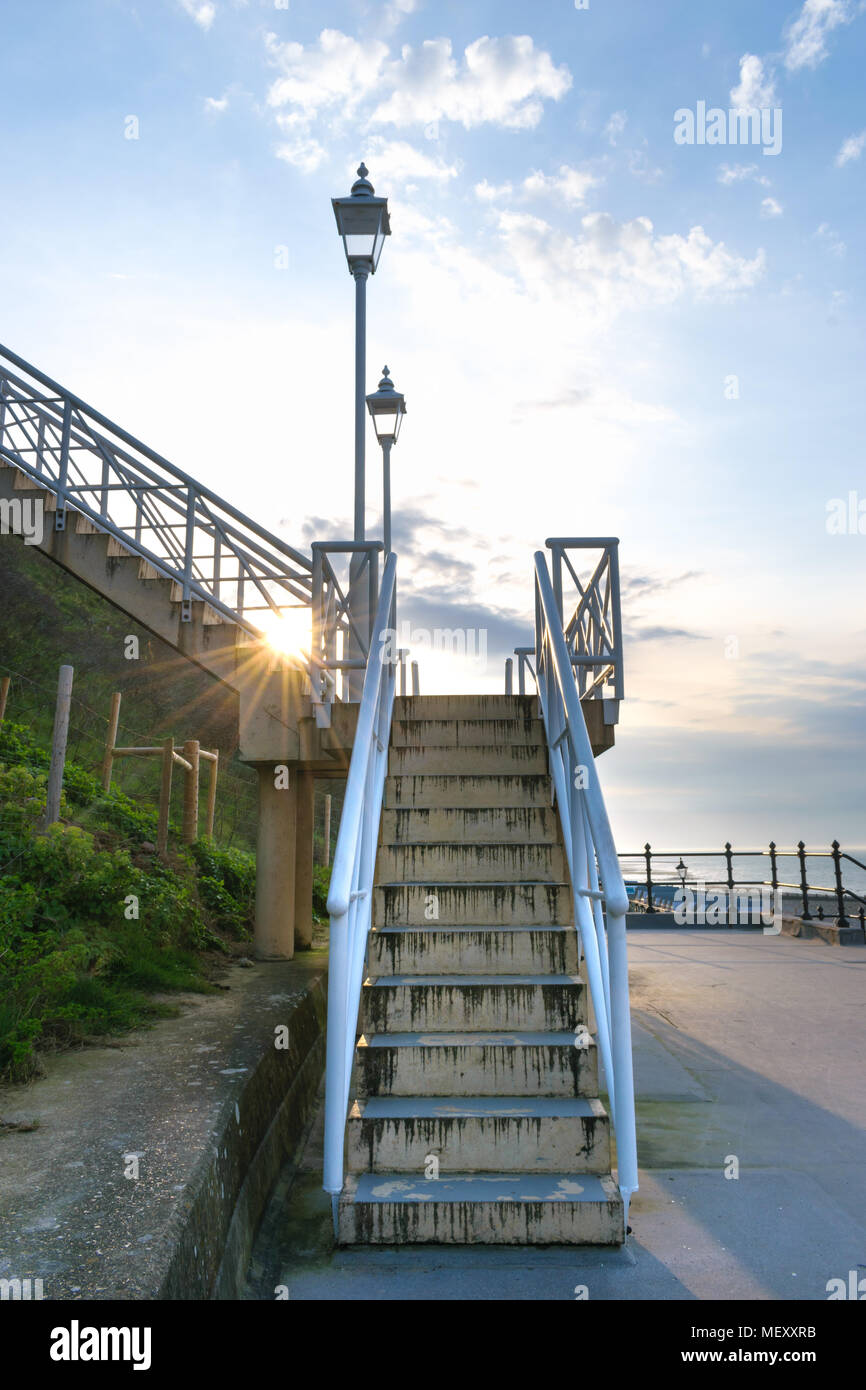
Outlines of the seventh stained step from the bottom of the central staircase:
[{"label": "seventh stained step from the bottom of the central staircase", "polygon": [[382,845],[377,883],[563,883],[559,845]]}]

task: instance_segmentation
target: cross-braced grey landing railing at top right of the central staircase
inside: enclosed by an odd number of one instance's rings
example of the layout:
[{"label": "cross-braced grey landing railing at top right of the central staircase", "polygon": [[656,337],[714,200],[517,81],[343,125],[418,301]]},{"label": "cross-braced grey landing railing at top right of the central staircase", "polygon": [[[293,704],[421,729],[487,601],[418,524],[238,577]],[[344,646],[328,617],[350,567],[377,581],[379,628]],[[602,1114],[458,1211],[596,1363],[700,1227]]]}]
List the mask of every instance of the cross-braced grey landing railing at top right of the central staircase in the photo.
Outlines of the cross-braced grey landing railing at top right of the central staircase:
[{"label": "cross-braced grey landing railing at top right of the central staircase", "polygon": [[[552,537],[546,541],[553,570],[553,599],[574,667],[578,698],[603,701],[606,724],[617,723],[619,702],[623,699],[619,545],[616,537]],[[574,550],[601,550],[588,578],[580,577],[571,556]],[[574,607],[566,619],[566,598],[571,603],[574,591]],[[514,659],[517,694],[525,695],[527,671],[535,678],[535,649],[516,646],[514,657],[506,660],[506,695],[513,694]]]}]

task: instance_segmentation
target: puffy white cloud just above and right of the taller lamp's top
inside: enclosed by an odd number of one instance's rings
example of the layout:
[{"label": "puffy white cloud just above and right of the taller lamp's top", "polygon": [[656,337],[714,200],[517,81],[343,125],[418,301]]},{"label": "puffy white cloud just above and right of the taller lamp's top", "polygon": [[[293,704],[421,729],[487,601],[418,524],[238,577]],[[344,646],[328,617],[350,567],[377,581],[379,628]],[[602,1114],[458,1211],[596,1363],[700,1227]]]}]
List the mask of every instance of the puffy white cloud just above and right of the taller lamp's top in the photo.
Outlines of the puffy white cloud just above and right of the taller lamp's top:
[{"label": "puffy white cloud just above and right of the taller lamp's top", "polygon": [[475,39],[463,63],[453,57],[450,39],[425,39],[418,47],[405,44],[400,58],[384,74],[391,96],[371,117],[377,125],[417,125],[457,121],[466,129],[495,124],[507,129],[532,129],[541,121],[545,100],[559,101],[571,86],[564,65],[555,67],[549,53],[537,49],[528,35]]}]

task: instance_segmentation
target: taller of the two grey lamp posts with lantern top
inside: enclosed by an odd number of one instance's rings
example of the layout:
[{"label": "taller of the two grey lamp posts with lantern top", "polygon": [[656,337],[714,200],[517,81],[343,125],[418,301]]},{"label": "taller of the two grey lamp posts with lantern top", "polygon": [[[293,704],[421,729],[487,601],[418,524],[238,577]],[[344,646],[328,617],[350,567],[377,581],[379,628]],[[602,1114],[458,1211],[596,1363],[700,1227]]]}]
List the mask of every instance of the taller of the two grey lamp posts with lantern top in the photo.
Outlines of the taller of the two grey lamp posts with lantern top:
[{"label": "taller of the two grey lamp posts with lantern top", "polygon": [[[385,238],[391,236],[388,199],[375,197],[367,178],[366,164],[360,164],[357,179],[348,197],[332,197],[331,206],[336,229],[343,242],[349,274],[354,279],[354,541],[364,541],[366,478],[364,478],[364,391],[367,378],[367,279],[375,275]],[[368,559],[374,564],[374,559]],[[368,632],[373,614],[367,613],[367,585],[361,584],[364,556],[356,550],[349,571],[349,609],[359,632]],[[350,632],[349,653],[361,657],[359,638]],[[359,699],[361,676],[349,677],[350,698]]]}]

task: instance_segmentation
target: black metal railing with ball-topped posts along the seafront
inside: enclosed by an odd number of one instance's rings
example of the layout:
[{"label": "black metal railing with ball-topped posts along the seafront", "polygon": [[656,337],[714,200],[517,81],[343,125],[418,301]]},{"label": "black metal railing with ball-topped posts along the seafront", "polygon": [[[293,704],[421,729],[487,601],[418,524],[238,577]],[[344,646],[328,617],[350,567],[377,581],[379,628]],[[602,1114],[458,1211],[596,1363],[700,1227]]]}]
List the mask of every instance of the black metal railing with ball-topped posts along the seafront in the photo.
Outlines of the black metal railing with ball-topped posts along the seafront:
[{"label": "black metal railing with ball-topped posts along the seafront", "polygon": [[[826,906],[835,906],[835,920],[840,927],[849,926],[848,915],[862,915],[863,908],[866,908],[866,888],[858,891],[844,881],[844,866],[851,865],[855,869],[862,869],[866,873],[866,863],[856,859],[853,855],[847,853],[838,840],[834,840],[830,849],[806,849],[806,845],[801,840],[794,849],[780,849],[774,841],[770,841],[767,849],[734,849],[730,841],[726,842],[724,849],[652,849],[649,844],[637,853],[620,852],[621,860],[637,860],[644,862],[644,876],[642,881],[634,881],[634,892],[630,895],[634,905],[641,905],[642,910],[648,915],[655,912],[669,912],[673,906],[673,898],[670,894],[671,887],[680,885],[681,888],[694,888],[699,884],[703,888],[721,888],[727,895],[733,895],[740,888],[769,888],[773,895],[781,895],[783,899],[791,898],[792,903],[799,899],[798,915],[803,922],[812,922],[813,917],[824,920],[827,915]],[[673,865],[673,860],[677,863]],[[724,859],[724,877],[723,878],[708,878],[705,874],[695,876],[691,873],[689,860],[701,859]],[[741,874],[734,873],[735,859],[760,859],[762,867],[763,862],[769,860],[770,877],[767,878],[745,878]],[[833,883],[809,883],[809,860],[830,860]],[[653,877],[653,860],[656,863],[667,862],[666,869],[659,867]],[[780,860],[794,860],[796,865],[796,881],[785,881],[780,874],[781,870]],[[669,877],[662,878],[660,874],[667,872]],[[631,881],[631,876],[630,876]],[[726,916],[730,916],[731,898],[728,897],[726,903]],[[812,910],[815,908],[815,912]],[[727,922],[724,923],[728,924]],[[738,923],[734,923],[738,924]]]}]

